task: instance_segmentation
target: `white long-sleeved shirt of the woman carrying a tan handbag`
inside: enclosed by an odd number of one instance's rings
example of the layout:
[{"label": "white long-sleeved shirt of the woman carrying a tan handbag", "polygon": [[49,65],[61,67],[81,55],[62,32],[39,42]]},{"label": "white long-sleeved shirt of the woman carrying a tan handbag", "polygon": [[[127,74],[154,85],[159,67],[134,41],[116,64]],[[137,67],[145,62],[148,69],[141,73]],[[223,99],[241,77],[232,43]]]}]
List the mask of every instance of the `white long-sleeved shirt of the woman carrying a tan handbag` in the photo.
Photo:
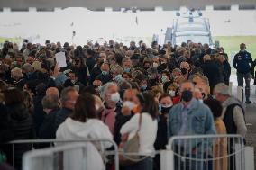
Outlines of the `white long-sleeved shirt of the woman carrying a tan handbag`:
[{"label": "white long-sleeved shirt of the woman carrying a tan handbag", "polygon": [[[130,121],[127,121],[121,128],[121,134],[129,133],[129,138],[132,139],[139,129],[140,113],[133,116]],[[149,113],[142,113],[142,125],[139,130],[140,148],[139,154],[152,156],[154,149],[154,143],[157,138],[158,121],[153,120]]]}]

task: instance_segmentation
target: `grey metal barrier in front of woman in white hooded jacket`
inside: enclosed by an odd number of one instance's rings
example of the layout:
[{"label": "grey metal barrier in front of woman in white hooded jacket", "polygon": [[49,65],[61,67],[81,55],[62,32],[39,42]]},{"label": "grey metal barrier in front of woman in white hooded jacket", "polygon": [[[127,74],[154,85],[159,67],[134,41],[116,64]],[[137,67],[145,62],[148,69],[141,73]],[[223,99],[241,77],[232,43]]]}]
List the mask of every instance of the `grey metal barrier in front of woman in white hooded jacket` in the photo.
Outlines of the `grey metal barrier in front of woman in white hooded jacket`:
[{"label": "grey metal barrier in front of woman in white hooded jacket", "polygon": [[[70,143],[73,143],[74,145],[74,142],[75,144],[81,144],[81,143],[85,143],[85,142],[91,142],[91,143],[94,143],[94,144],[101,144],[101,148],[98,148],[96,147],[97,149],[100,149],[99,150],[99,153],[104,157],[104,156],[110,156],[110,155],[114,155],[114,166],[115,166],[115,169],[119,169],[119,157],[118,157],[118,147],[117,145],[115,144],[115,142],[113,140],[110,140],[110,139],[24,139],[24,140],[14,140],[14,141],[11,141],[9,143],[7,143],[7,145],[12,145],[12,156],[13,156],[13,166],[15,166],[15,148],[20,145],[20,146],[23,146],[25,148],[28,147],[28,145],[30,146],[30,150],[37,150],[39,151],[38,149],[36,148],[41,148],[41,145],[45,145],[45,144],[48,144],[49,147],[54,147],[54,145],[60,145],[60,144],[65,144],[63,145],[63,148],[61,147],[60,149],[65,149],[64,147],[66,145],[69,145]],[[106,151],[105,148],[103,148],[102,144],[103,143],[110,143],[112,144],[112,146],[114,147],[114,151]],[[45,146],[44,146],[45,147]],[[79,146],[81,147],[81,146]],[[68,147],[67,149],[71,149],[72,147]],[[75,147],[76,148],[76,147]],[[44,148],[44,149],[48,149],[48,148]],[[73,148],[74,149],[74,148]],[[45,153],[42,153],[40,152],[39,154],[42,154],[42,155],[45,155],[45,154],[51,154],[52,152],[57,152],[59,151],[59,147],[56,148],[55,150],[55,147],[53,150],[48,150],[47,152]],[[32,154],[32,156],[37,156],[37,153],[35,153],[34,155]],[[27,156],[27,157],[30,157]]]}]

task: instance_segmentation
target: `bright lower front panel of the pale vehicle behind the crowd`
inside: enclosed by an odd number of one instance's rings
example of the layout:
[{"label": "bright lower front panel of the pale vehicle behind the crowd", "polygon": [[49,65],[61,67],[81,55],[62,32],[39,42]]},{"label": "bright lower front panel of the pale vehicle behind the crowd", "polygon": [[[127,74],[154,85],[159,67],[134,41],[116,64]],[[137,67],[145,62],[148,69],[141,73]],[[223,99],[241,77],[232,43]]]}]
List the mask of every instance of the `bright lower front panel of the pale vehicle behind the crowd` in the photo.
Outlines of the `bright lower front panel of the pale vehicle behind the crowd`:
[{"label": "bright lower front panel of the pale vehicle behind the crowd", "polygon": [[180,45],[182,42],[187,42],[187,40],[192,40],[192,42],[195,43],[207,43],[210,44],[210,38],[209,36],[204,35],[184,35],[184,36],[178,36],[175,38],[176,44]]}]

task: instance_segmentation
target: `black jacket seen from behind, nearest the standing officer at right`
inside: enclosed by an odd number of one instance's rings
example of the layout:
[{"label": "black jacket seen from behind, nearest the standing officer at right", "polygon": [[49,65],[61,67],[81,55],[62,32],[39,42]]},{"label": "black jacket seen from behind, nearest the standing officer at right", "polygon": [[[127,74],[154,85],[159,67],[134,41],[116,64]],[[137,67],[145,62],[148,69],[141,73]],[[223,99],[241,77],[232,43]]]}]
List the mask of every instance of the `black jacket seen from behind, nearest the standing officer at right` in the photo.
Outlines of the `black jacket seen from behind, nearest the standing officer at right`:
[{"label": "black jacket seen from behind, nearest the standing officer at right", "polygon": [[211,87],[211,92],[213,91],[215,85],[222,82],[222,76],[220,69],[214,61],[206,61],[201,68],[203,69],[204,75],[208,78]]}]

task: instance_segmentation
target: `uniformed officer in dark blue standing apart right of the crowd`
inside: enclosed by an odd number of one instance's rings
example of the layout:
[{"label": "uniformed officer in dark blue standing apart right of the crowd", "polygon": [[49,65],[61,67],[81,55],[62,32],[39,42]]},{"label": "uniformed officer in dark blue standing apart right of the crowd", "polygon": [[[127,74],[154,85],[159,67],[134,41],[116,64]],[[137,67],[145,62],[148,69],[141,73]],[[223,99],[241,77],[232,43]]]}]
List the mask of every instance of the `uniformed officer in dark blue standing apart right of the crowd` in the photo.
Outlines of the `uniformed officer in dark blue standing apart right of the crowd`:
[{"label": "uniformed officer in dark blue standing apart right of the crowd", "polygon": [[236,69],[238,86],[242,86],[243,96],[243,78],[245,80],[245,103],[251,103],[250,101],[250,82],[251,82],[251,67],[253,61],[251,54],[247,52],[246,45],[240,44],[240,51],[233,58],[233,67]]}]

